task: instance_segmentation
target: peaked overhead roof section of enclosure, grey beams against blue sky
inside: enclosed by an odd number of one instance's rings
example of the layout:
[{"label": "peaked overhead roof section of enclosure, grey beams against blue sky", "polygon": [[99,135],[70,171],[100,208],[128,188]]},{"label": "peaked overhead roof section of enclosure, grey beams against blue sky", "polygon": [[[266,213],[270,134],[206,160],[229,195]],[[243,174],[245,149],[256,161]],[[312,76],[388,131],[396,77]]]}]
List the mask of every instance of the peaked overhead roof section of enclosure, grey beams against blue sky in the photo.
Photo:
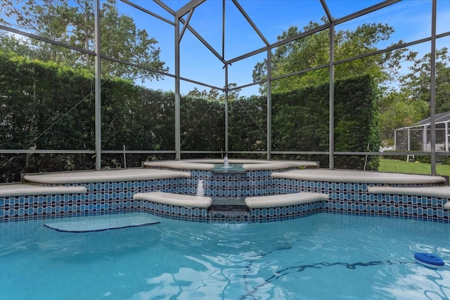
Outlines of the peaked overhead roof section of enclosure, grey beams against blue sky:
[{"label": "peaked overhead roof section of enclosure, grey beams against blue sky", "polygon": [[[326,30],[401,0],[158,0],[125,1],[143,10],[164,11],[180,20],[179,41],[191,31],[222,63],[274,48],[307,34]],[[169,17],[170,16],[170,17]],[[207,28],[204,24],[207,23]],[[269,26],[268,26],[269,24]],[[298,34],[282,37],[296,27]],[[238,34],[236,34],[238,32]],[[221,39],[217,39],[217,37]]]}]

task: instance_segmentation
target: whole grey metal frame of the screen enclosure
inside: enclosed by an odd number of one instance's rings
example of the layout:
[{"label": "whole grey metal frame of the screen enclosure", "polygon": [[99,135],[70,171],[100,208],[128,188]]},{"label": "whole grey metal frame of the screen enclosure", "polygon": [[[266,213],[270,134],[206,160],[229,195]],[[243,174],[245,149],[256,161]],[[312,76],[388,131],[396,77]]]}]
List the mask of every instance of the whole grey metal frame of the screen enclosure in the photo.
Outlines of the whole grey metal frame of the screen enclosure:
[{"label": "whole grey metal frame of the screen enclosure", "polygon": [[[450,36],[450,32],[444,32],[442,34],[436,34],[436,18],[437,18],[437,0],[432,0],[432,32],[430,33],[430,37],[427,37],[425,39],[420,39],[420,40],[416,40],[416,41],[411,41],[409,43],[405,43],[405,44],[401,44],[401,45],[397,45],[397,46],[392,46],[389,48],[385,48],[385,49],[380,49],[378,51],[374,51],[372,53],[368,53],[368,54],[363,54],[363,55],[359,55],[359,56],[355,56],[352,58],[347,58],[345,60],[340,60],[340,61],[335,61],[334,57],[335,57],[335,49],[334,49],[334,28],[336,25],[339,25],[343,22],[347,22],[349,20],[352,20],[354,18],[358,18],[361,15],[365,15],[367,13],[371,13],[373,11],[377,11],[379,9],[385,8],[387,6],[390,6],[392,4],[395,4],[401,0],[386,0],[383,1],[379,4],[375,4],[373,6],[370,6],[368,8],[365,8],[361,11],[357,11],[355,13],[352,13],[350,15],[347,15],[343,18],[339,18],[339,19],[334,19],[333,15],[330,13],[328,6],[326,5],[326,0],[319,0],[321,3],[321,6],[323,8],[324,13],[326,14],[326,17],[328,18],[328,23],[326,23],[325,25],[321,25],[319,27],[316,27],[312,30],[309,30],[307,32],[302,32],[300,34],[295,35],[294,37],[289,37],[288,39],[284,39],[283,41],[277,41],[276,43],[270,44],[269,41],[267,41],[267,39],[264,37],[264,34],[262,34],[262,32],[258,29],[258,27],[255,25],[254,22],[252,22],[252,19],[250,18],[250,16],[245,12],[245,10],[242,8],[242,6],[240,6],[239,1],[238,0],[231,0],[231,3],[233,5],[236,6],[236,8],[238,8],[238,10],[240,11],[240,13],[242,13],[243,17],[245,18],[245,20],[247,20],[248,24],[253,28],[253,30],[255,30],[255,32],[259,35],[259,37],[262,39],[262,41],[264,41],[264,44],[266,46],[259,48],[259,49],[255,49],[255,51],[251,51],[250,53],[246,53],[243,56],[238,56],[236,58],[232,58],[231,60],[225,60],[224,59],[224,44],[225,44],[225,39],[224,39],[224,27],[225,27],[225,13],[226,13],[226,3],[228,3],[228,1],[226,0],[222,0],[223,1],[223,22],[222,22],[222,53],[221,55],[219,53],[217,53],[217,51],[214,50],[214,48],[212,46],[210,46],[210,44],[207,43],[207,41],[205,41],[205,39],[203,39],[203,37],[201,37],[200,34],[198,34],[198,32],[195,32],[195,30],[193,29],[193,27],[191,27],[189,25],[189,20],[191,18],[191,16],[193,15],[193,12],[195,10],[195,8],[197,8],[198,6],[200,6],[201,4],[203,4],[205,1],[207,0],[191,0],[188,2],[188,4],[186,4],[185,6],[183,6],[182,8],[180,8],[178,11],[173,11],[171,8],[169,8],[169,6],[167,6],[163,1],[161,0],[153,0],[156,4],[158,4],[159,6],[161,6],[162,8],[165,9],[165,11],[169,12],[171,15],[173,15],[174,17],[174,21],[172,20],[168,20],[167,18],[163,18],[161,15],[158,15],[156,13],[153,13],[152,11],[147,10],[146,8],[143,8],[141,6],[139,6],[138,4],[131,2],[129,0],[120,0],[122,1],[124,4],[128,4],[129,6],[132,6],[136,9],[139,9],[140,11],[143,11],[144,13],[148,13],[149,15],[152,15],[155,18],[158,18],[159,20],[162,20],[163,22],[167,22],[170,25],[174,26],[174,39],[175,39],[175,67],[174,67],[174,74],[170,74],[167,72],[161,72],[159,70],[152,70],[148,67],[143,67],[141,65],[136,65],[134,63],[130,63],[127,61],[123,61],[117,58],[113,58],[110,56],[105,56],[103,54],[101,54],[101,49],[100,49],[100,39],[101,39],[101,32],[100,32],[100,0],[93,0],[95,2],[94,6],[95,6],[95,15],[94,15],[94,19],[95,19],[95,24],[96,24],[96,29],[95,29],[95,41],[96,41],[96,48],[95,51],[87,51],[83,48],[78,48],[75,46],[70,46],[68,44],[63,44],[61,42],[58,41],[53,41],[51,39],[47,39],[45,37],[39,37],[35,34],[30,34],[27,32],[23,32],[21,30],[16,30],[14,28],[11,27],[6,27],[4,25],[0,25],[0,29],[1,30],[6,30],[8,32],[13,32],[15,34],[21,34],[25,37],[30,37],[32,39],[38,39],[40,41],[46,41],[50,44],[55,44],[58,46],[63,46],[65,48],[70,48],[72,50],[75,51],[79,51],[81,53],[87,53],[89,55],[95,56],[96,58],[96,63],[95,63],[95,77],[96,77],[96,81],[95,81],[95,103],[96,103],[96,107],[95,107],[95,116],[96,116],[96,125],[95,125],[95,145],[96,145],[96,149],[95,151],[93,150],[27,150],[27,149],[13,149],[13,150],[0,150],[0,153],[14,153],[14,154],[18,154],[18,153],[94,153],[96,155],[96,169],[100,170],[101,168],[101,155],[102,153],[122,153],[122,152],[127,152],[127,153],[174,153],[175,154],[175,159],[181,159],[181,154],[182,153],[190,153],[190,151],[181,151],[181,136],[180,136],[180,99],[181,99],[181,91],[180,91],[180,82],[183,81],[188,81],[191,82],[193,84],[199,84],[201,86],[205,86],[205,87],[209,87],[212,89],[217,89],[219,91],[223,91],[225,93],[225,98],[226,98],[226,119],[225,119],[225,132],[224,132],[224,140],[225,140],[225,152],[229,153],[229,138],[228,138],[228,131],[229,131],[229,124],[228,124],[228,98],[229,98],[229,92],[236,90],[236,89],[243,89],[245,87],[248,86],[252,86],[255,84],[262,84],[262,83],[266,83],[267,85],[267,124],[266,124],[266,128],[267,128],[267,141],[266,141],[266,157],[267,159],[271,159],[271,155],[272,154],[302,154],[302,155],[309,155],[309,154],[315,154],[315,155],[328,155],[329,156],[329,169],[334,169],[334,156],[335,155],[386,155],[386,153],[383,152],[335,152],[334,151],[334,84],[330,84],[330,98],[329,98],[329,109],[330,109],[330,114],[329,114],[329,122],[330,122],[330,127],[329,127],[329,149],[326,152],[307,152],[307,151],[281,151],[281,152],[276,152],[276,151],[272,151],[271,149],[271,81],[276,80],[276,79],[281,79],[284,77],[289,77],[295,74],[302,74],[304,72],[309,72],[311,70],[319,70],[321,68],[324,67],[328,67],[329,68],[329,80],[330,83],[334,82],[334,68],[336,65],[342,64],[342,63],[347,63],[349,61],[352,60],[358,60],[360,58],[365,58],[368,56],[373,56],[373,55],[377,55],[380,53],[385,53],[387,51],[392,51],[398,48],[404,48],[404,47],[408,47],[408,46],[413,46],[416,44],[420,44],[423,43],[425,41],[430,41],[431,42],[431,78],[430,78],[430,86],[431,86],[431,93],[430,93],[430,117],[431,117],[431,126],[432,126],[432,134],[431,134],[431,151],[430,152],[414,152],[411,153],[412,155],[430,155],[431,157],[431,174],[432,176],[436,175],[436,157],[437,157],[437,152],[435,149],[435,65],[436,65],[436,39],[442,38],[442,37],[448,37]],[[439,0],[442,1],[442,0]],[[188,15],[188,18],[186,20],[184,20],[184,16]],[[192,34],[195,35],[195,37],[197,37],[202,43],[203,45],[205,45],[205,47],[207,47],[211,53],[214,54],[214,56],[217,57],[217,59],[219,59],[221,61],[221,63],[224,63],[224,68],[225,68],[225,78],[224,78],[224,88],[218,87],[218,86],[211,86],[209,84],[205,84],[202,82],[198,82],[198,81],[194,81],[192,79],[188,79],[188,78],[184,78],[180,76],[180,44],[181,44],[181,40],[183,37],[183,34],[186,30],[189,30]],[[290,74],[283,74],[282,76],[278,76],[278,77],[272,77],[272,72],[271,72],[271,64],[268,63],[267,65],[267,79],[266,81],[261,81],[261,82],[253,82],[252,84],[245,84],[243,86],[236,86],[233,88],[229,87],[229,78],[228,78],[228,66],[231,65],[232,63],[238,61],[238,60],[243,60],[245,58],[249,58],[250,56],[254,56],[255,54],[258,53],[262,53],[262,52],[266,52],[266,58],[267,61],[270,62],[271,61],[271,51],[278,47],[281,46],[283,44],[287,44],[290,41],[294,41],[296,39],[301,39],[302,37],[307,37],[310,34],[314,34],[316,32],[320,32],[323,30],[329,30],[330,31],[330,62],[326,65],[320,65],[317,67],[311,67],[308,70],[300,70],[297,72],[293,72]],[[101,81],[100,81],[100,74],[101,74],[101,63],[100,60],[101,59],[106,59],[106,60],[113,60],[117,63],[123,63],[125,65],[129,65],[129,66],[133,66],[133,67],[139,67],[145,70],[150,70],[152,72],[158,73],[158,74],[162,74],[163,76],[167,76],[167,77],[172,77],[175,79],[175,85],[174,85],[174,89],[175,89],[175,149],[174,151],[172,150],[166,150],[166,151],[160,151],[160,150],[139,150],[139,151],[120,151],[120,150],[102,150],[101,149]],[[231,152],[230,152],[231,153]],[[238,153],[253,153],[253,152],[238,152]],[[258,154],[261,152],[257,152]],[[392,155],[401,155],[401,152],[391,152]],[[439,155],[448,155],[448,153],[439,153]]]}]

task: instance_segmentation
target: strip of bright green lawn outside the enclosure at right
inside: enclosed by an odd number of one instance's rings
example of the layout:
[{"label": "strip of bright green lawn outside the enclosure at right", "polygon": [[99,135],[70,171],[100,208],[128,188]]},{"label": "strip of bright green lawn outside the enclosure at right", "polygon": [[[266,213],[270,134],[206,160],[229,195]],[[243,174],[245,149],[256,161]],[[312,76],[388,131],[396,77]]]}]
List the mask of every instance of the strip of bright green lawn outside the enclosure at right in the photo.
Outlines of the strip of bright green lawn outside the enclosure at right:
[{"label": "strip of bright green lawn outside the enclosure at right", "polygon": [[[391,172],[391,173],[406,173],[406,174],[431,174],[431,165],[423,164],[421,162],[402,162],[400,160],[394,159],[383,159],[380,158],[380,167],[378,167],[380,172]],[[450,166],[437,164],[436,165],[437,175],[450,176]]]}]

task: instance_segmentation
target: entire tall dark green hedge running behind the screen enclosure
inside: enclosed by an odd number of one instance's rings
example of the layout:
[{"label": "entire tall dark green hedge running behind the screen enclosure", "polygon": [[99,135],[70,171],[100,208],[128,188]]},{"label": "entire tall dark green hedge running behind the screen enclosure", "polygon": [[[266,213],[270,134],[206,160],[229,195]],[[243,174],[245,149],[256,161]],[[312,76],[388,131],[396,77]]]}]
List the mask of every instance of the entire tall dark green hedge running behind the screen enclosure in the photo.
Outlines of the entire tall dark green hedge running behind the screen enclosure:
[{"label": "entire tall dark green hedge running behind the screen enclosure", "polygon": [[[93,150],[94,74],[0,52],[0,149]],[[272,149],[328,151],[328,85],[272,98]],[[335,151],[378,150],[376,98],[368,76],[335,83]],[[124,79],[101,85],[103,150],[174,150],[174,93]],[[229,105],[229,148],[266,150],[266,98]],[[219,100],[181,98],[181,149],[224,150],[225,106]],[[184,155],[184,157],[193,155]],[[207,156],[200,154],[200,156]],[[240,155],[244,157],[245,155]],[[326,157],[326,156],[325,156]],[[127,155],[127,167],[167,155]],[[302,157],[296,157],[302,158]],[[123,167],[123,155],[102,155],[103,167]],[[321,158],[320,158],[321,159]],[[320,160],[319,159],[319,160]],[[322,159],[326,167],[328,159]],[[25,172],[94,169],[92,154],[3,154],[0,182]],[[376,169],[378,159],[337,156],[335,167]]]}]

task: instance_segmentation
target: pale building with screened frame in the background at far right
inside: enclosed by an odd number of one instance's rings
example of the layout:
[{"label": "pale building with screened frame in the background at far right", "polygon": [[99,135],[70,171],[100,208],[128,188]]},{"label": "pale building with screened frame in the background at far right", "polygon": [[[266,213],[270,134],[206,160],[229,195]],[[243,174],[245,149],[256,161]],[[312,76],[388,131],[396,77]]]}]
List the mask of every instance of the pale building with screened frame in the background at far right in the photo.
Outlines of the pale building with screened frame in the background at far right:
[{"label": "pale building with screened frame in the background at far right", "polygon": [[[394,150],[430,151],[431,118],[423,119],[413,126],[395,129]],[[436,150],[449,151],[450,112],[435,116]]]}]

